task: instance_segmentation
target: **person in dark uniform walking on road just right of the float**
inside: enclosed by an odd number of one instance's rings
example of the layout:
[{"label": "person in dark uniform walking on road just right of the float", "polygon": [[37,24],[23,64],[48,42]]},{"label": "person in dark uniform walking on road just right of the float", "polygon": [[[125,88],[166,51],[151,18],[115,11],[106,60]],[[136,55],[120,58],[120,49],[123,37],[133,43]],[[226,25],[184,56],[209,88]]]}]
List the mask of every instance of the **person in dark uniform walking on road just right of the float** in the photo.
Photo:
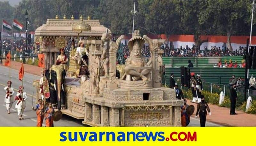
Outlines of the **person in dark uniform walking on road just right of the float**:
[{"label": "person in dark uniform walking on road just right of the float", "polygon": [[[210,111],[208,104],[204,101],[203,95],[201,95],[201,100],[202,101],[197,104],[196,118],[197,118],[197,115],[199,112],[200,127],[205,127],[207,111],[209,112],[209,115],[211,115],[211,111]],[[206,111],[206,109],[207,109],[207,111]]]}]

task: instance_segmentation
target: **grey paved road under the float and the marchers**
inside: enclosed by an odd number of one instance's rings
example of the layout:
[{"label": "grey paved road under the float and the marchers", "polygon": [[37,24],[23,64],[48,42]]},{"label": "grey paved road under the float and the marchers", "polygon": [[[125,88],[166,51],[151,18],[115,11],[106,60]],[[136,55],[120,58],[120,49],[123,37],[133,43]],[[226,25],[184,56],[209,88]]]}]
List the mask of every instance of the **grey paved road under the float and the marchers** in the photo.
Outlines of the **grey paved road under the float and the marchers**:
[{"label": "grey paved road under the float and the marchers", "polygon": [[[25,73],[24,74],[24,80],[23,80],[23,86],[24,91],[27,92],[28,95],[32,95],[33,92],[36,94],[36,89],[32,86],[33,80],[39,80],[39,76]],[[0,95],[4,97],[5,91],[4,86],[6,86],[7,81],[9,80],[9,68],[5,66],[0,66]],[[18,79],[18,70],[11,69],[11,81],[12,81],[12,87],[16,89],[14,95],[17,93],[17,89],[22,84],[21,81]],[[15,109],[15,106],[12,105],[11,114],[7,114],[6,108],[4,105],[4,99],[2,98],[2,102],[0,102],[0,126],[36,126],[36,112],[32,111],[32,96],[28,96],[28,99],[26,101],[26,109],[23,113],[24,120],[19,120],[17,116],[17,111]],[[35,100],[34,100],[35,102]],[[16,103],[16,102],[15,102]],[[35,107],[35,105],[34,105]],[[44,121],[45,123],[45,121]],[[62,116],[62,119],[58,122],[54,122],[54,126],[68,126],[68,127],[81,127],[85,126],[82,124],[82,120],[77,120],[72,117],[69,117],[67,115]],[[200,126],[199,119],[195,119],[191,117],[190,124],[188,126],[191,127],[198,127]],[[220,126],[214,123],[206,122],[206,126],[209,127],[215,127]]]}]

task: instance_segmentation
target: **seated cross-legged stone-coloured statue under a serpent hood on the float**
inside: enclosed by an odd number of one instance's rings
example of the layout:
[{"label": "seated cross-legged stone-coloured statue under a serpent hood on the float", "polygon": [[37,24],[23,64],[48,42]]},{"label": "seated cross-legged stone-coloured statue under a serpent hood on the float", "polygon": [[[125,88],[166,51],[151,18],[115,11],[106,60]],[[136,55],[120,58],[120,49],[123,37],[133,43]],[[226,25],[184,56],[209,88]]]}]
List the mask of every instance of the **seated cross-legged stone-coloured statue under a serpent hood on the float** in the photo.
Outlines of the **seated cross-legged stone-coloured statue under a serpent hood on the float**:
[{"label": "seated cross-legged stone-coloured statue under a serpent hood on the float", "polygon": [[[134,35],[132,39],[129,40],[128,42],[128,47],[131,52],[131,55],[129,58],[126,59],[125,61],[125,68],[124,72],[125,74],[123,75],[122,79],[125,79],[126,76],[126,81],[131,81],[131,76],[132,76],[132,81],[138,81],[142,79],[143,81],[148,81],[150,79],[150,69],[136,69],[134,67],[144,67],[144,66],[150,66],[152,64],[152,60],[150,59],[148,63],[146,64],[145,58],[141,54],[141,48],[144,45],[145,40],[140,37],[139,31],[135,30]],[[127,75],[128,78],[127,78]]]}]

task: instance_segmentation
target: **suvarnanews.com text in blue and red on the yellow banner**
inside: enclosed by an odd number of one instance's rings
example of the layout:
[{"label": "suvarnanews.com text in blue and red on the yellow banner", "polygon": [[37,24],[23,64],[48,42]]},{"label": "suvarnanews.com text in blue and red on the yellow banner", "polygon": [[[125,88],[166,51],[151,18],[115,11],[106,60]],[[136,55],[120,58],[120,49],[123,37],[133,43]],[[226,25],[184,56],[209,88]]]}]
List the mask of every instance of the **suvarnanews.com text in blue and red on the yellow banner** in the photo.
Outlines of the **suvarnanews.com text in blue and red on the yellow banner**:
[{"label": "suvarnanews.com text in blue and red on the yellow banner", "polygon": [[60,142],[129,142],[129,141],[194,141],[196,132],[61,132]]}]

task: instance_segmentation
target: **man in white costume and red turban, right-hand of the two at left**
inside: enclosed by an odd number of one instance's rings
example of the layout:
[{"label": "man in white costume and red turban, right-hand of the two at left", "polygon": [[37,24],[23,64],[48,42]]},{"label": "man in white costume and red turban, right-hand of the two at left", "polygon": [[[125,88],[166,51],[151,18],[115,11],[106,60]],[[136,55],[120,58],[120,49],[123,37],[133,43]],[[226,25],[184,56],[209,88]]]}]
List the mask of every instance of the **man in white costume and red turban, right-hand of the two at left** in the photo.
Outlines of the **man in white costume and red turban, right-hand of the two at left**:
[{"label": "man in white costume and red turban, right-hand of the two at left", "polygon": [[15,108],[18,111],[19,120],[23,119],[22,114],[23,114],[23,111],[26,107],[25,100],[27,100],[27,98],[28,98],[27,93],[23,92],[23,89],[24,89],[24,87],[20,86],[19,87],[19,92],[17,92],[16,97],[15,97],[15,100],[18,100],[17,104],[15,104]]}]

